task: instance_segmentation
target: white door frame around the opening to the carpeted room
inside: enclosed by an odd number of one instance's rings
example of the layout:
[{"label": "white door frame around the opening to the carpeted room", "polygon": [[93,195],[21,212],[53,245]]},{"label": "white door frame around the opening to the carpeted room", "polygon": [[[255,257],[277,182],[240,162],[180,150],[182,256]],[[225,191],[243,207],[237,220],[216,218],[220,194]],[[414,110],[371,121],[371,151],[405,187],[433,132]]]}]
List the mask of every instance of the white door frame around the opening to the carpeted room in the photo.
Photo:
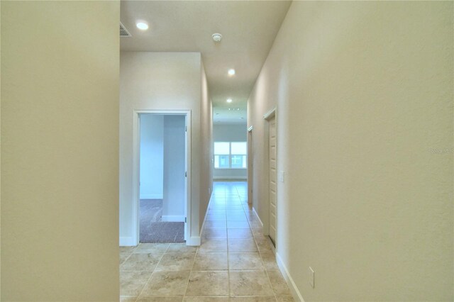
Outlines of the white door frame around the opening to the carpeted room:
[{"label": "white door frame around the opening to the carpeted room", "polygon": [[133,242],[139,244],[140,240],[140,115],[155,114],[160,116],[185,116],[186,117],[186,150],[185,150],[185,171],[184,182],[184,240],[188,244],[191,236],[191,111],[190,110],[134,110],[133,111]]}]

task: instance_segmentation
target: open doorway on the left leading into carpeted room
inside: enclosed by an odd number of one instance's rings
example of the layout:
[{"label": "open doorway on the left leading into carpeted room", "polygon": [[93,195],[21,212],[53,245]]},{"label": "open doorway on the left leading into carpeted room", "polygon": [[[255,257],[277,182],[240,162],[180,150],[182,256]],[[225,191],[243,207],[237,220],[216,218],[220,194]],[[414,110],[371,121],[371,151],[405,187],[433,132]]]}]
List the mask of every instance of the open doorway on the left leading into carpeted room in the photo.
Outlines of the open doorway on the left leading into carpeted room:
[{"label": "open doorway on the left leading into carpeted room", "polygon": [[185,242],[189,234],[187,111],[135,111],[136,242]]}]

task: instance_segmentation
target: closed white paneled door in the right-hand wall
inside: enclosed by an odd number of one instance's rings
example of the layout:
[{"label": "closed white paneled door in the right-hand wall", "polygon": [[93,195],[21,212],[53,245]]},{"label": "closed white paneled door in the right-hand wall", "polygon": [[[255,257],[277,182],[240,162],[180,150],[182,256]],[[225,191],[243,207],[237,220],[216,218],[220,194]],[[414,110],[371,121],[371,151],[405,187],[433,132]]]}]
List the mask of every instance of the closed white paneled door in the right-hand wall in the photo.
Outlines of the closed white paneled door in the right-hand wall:
[{"label": "closed white paneled door in the right-hand wall", "polygon": [[276,246],[276,119],[268,121],[269,193],[270,198],[270,238]]}]

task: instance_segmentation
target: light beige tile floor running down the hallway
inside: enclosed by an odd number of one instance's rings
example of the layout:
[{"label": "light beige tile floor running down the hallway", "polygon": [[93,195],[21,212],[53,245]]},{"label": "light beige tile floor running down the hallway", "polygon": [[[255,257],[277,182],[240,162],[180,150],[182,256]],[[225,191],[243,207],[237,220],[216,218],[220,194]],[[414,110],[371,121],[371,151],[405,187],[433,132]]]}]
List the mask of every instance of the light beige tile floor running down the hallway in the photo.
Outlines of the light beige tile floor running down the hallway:
[{"label": "light beige tile floor running down the hallway", "polygon": [[142,243],[120,248],[120,300],[294,301],[245,182],[215,182],[200,247]]}]

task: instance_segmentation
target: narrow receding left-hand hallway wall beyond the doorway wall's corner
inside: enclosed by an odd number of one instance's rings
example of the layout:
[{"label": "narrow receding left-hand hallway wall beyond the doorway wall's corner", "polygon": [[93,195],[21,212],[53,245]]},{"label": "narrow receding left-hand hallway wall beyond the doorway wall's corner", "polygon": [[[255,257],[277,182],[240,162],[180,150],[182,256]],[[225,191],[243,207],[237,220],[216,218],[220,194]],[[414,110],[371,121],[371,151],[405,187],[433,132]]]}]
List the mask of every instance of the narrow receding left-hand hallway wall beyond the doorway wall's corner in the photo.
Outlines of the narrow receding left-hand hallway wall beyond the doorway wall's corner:
[{"label": "narrow receding left-hand hallway wall beyond the doorway wall's corner", "polygon": [[204,223],[204,217],[211,192],[213,191],[213,106],[209,95],[208,82],[203,62],[201,62],[201,181],[200,181],[200,220],[199,228]]}]

